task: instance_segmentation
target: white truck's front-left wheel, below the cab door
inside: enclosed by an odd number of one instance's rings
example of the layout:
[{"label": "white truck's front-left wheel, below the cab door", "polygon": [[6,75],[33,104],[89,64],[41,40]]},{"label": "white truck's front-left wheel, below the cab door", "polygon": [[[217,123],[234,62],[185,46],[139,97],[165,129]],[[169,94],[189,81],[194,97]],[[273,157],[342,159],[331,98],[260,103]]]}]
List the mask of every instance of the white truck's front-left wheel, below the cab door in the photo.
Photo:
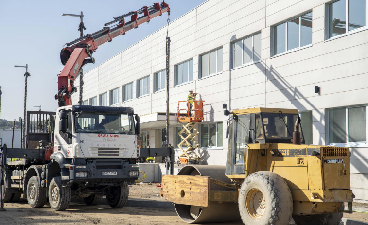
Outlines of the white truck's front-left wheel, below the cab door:
[{"label": "white truck's front-left wheel, below the cab door", "polygon": [[55,211],[63,211],[69,207],[70,200],[70,186],[63,187],[61,177],[54,177],[49,186],[49,203],[51,208]]}]

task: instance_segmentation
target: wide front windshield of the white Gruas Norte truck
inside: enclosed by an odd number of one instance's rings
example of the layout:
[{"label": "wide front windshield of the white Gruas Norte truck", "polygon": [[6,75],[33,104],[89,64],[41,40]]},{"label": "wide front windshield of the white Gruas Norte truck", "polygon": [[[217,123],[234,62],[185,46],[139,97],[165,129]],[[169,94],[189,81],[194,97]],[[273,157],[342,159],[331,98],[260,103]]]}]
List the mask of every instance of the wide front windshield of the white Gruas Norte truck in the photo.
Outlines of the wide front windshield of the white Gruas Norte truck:
[{"label": "wide front windshield of the white Gruas Norte truck", "polygon": [[111,113],[75,113],[77,133],[135,134],[133,115]]}]

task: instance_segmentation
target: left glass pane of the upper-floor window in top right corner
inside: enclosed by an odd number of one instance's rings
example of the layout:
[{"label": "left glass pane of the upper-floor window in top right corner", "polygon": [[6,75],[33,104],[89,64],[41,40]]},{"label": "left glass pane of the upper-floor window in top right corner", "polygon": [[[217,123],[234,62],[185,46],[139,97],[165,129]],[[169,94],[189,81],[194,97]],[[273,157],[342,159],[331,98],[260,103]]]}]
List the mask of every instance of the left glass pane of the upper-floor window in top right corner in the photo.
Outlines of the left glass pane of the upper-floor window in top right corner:
[{"label": "left glass pane of the upper-floor window in top right corner", "polygon": [[345,34],[346,1],[339,0],[329,5],[329,37]]}]

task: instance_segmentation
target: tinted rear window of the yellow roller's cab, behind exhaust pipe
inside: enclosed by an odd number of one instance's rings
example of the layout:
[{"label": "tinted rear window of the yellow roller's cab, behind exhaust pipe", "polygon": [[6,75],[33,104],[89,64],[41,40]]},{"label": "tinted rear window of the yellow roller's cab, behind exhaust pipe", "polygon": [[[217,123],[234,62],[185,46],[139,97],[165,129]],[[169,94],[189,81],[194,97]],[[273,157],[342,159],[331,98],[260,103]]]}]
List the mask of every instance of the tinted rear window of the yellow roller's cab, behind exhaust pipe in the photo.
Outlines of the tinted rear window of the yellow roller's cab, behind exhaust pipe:
[{"label": "tinted rear window of the yellow roller's cab, behind exhaust pipe", "polygon": [[293,138],[294,124],[298,120],[298,114],[262,113],[262,118],[267,139],[291,140]]}]

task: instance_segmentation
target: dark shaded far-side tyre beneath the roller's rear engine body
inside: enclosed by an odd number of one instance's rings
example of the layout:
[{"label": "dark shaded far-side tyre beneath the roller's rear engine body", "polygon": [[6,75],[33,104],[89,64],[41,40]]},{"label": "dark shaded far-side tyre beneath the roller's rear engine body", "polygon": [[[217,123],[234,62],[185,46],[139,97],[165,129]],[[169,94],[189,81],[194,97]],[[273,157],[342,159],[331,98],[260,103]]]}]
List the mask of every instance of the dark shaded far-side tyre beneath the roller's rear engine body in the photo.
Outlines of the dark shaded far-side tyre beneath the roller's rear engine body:
[{"label": "dark shaded far-side tyre beneath the roller's rear engine body", "polygon": [[326,213],[316,215],[293,215],[297,225],[340,225],[342,213]]}]

